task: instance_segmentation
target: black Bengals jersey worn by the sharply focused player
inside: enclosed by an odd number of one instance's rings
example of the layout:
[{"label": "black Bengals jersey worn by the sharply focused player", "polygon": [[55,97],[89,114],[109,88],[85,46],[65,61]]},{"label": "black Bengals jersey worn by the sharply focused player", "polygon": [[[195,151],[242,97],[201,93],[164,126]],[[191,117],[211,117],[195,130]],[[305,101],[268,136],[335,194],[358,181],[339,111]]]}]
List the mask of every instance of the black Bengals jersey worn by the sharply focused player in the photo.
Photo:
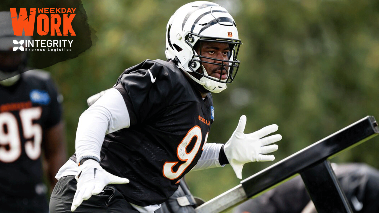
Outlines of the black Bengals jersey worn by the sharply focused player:
[{"label": "black Bengals jersey worn by the sharply focused player", "polygon": [[114,185],[128,202],[161,204],[199,160],[213,122],[210,93],[203,100],[171,61],[146,60],[125,70],[114,86],[130,127],[105,137],[101,166],[130,180]]}]

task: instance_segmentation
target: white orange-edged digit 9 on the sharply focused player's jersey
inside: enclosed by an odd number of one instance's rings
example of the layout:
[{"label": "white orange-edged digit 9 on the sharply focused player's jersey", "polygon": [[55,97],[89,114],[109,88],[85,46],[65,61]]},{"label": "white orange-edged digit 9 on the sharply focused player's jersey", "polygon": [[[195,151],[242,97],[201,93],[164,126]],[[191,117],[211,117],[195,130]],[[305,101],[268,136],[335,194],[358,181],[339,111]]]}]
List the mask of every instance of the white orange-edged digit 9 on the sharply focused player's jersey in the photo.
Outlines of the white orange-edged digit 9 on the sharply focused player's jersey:
[{"label": "white orange-edged digit 9 on the sharply focused player's jersey", "polygon": [[[196,137],[195,145],[191,151],[187,152],[187,146],[189,145],[189,143],[191,143],[194,137]],[[180,142],[177,148],[177,156],[179,160],[185,161],[185,163],[181,164],[179,168],[177,169],[177,171],[174,171],[173,168],[177,163],[179,163],[179,161],[175,161],[175,162],[167,161],[163,165],[163,176],[170,180],[174,180],[180,177],[180,175],[183,174],[183,172],[186,170],[189,164],[192,163],[197,152],[199,151],[201,140],[202,140],[201,129],[199,126],[196,125],[188,131],[187,135],[183,138],[182,142]],[[205,143],[207,143],[206,139],[205,139],[204,144]]]}]

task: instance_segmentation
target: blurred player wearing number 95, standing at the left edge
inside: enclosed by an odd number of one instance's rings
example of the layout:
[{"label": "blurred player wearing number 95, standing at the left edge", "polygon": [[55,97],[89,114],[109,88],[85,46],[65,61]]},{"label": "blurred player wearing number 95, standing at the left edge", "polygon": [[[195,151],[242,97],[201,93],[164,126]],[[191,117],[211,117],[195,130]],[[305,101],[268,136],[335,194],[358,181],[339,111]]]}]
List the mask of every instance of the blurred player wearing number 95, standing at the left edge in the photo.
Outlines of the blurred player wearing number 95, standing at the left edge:
[{"label": "blurred player wearing number 95, standing at the left edge", "polygon": [[52,190],[67,157],[62,97],[47,72],[24,72],[28,54],[13,51],[22,39],[0,12],[0,213],[47,213],[43,171]]}]

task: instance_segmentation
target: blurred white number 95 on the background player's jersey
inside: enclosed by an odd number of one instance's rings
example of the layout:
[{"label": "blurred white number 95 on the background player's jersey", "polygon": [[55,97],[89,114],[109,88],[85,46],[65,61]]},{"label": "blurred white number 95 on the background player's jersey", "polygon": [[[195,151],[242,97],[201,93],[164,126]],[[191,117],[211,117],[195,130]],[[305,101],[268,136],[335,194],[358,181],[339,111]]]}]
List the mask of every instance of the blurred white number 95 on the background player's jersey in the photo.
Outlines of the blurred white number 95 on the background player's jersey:
[{"label": "blurred white number 95 on the background player's jersey", "polygon": [[[34,119],[41,117],[41,107],[20,110],[25,152],[32,160],[41,155],[42,128],[33,124]],[[34,136],[34,138],[33,138]],[[5,163],[16,161],[21,155],[21,139],[16,117],[9,112],[0,113],[0,161]]]}]

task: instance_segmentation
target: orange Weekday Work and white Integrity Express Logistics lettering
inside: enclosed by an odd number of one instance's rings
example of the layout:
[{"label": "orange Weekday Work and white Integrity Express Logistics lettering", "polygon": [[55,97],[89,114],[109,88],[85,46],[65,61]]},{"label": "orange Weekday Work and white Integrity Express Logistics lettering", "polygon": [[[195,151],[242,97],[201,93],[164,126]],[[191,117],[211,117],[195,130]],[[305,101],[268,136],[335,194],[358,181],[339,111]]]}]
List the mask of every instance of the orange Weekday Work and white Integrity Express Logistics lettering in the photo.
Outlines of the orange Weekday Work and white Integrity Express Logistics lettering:
[{"label": "orange Weekday Work and white Integrity Express Logistics lettering", "polygon": [[[33,36],[34,25],[40,36],[76,36],[71,22],[75,17],[76,8],[31,8],[29,17],[26,8],[21,8],[17,17],[16,8],[11,8],[12,27],[15,36]],[[36,12],[40,13],[36,18]],[[50,17],[48,16],[50,15]],[[61,18],[63,15],[63,18]],[[60,27],[63,24],[63,34]],[[50,34],[49,34],[50,32]],[[71,51],[72,42],[69,39],[27,39],[13,40],[13,51]]]}]

